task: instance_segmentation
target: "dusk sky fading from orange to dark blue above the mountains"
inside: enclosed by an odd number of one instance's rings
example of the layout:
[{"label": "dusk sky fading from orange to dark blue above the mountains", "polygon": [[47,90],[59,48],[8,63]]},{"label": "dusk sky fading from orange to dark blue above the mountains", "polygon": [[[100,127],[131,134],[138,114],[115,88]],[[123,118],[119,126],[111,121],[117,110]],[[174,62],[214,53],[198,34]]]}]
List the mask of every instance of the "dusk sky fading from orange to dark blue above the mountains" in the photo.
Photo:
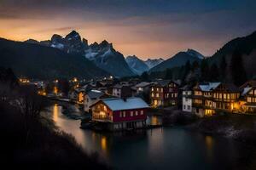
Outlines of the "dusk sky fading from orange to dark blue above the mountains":
[{"label": "dusk sky fading from orange to dark blue above the mountains", "polygon": [[256,31],[254,0],[0,0],[0,37],[48,40],[78,31],[141,59],[193,48],[211,56]]}]

